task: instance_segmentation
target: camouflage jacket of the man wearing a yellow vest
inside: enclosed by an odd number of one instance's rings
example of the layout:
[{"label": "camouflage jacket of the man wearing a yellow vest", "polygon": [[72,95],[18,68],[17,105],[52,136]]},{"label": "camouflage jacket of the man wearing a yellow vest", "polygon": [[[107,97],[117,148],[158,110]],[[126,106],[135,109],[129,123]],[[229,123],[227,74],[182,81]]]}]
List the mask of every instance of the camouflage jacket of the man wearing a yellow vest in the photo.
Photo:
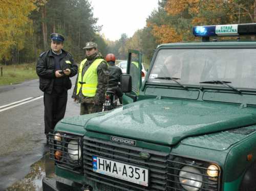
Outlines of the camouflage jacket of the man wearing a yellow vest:
[{"label": "camouflage jacket of the man wearing a yellow vest", "polygon": [[[82,77],[86,73],[87,69],[91,66],[91,64],[94,62],[95,59],[103,58],[100,53],[96,53],[95,55],[90,56],[90,58],[87,58],[86,63],[84,63],[82,68]],[[77,80],[74,87],[72,98],[78,99],[80,103],[87,103],[87,104],[95,104],[95,105],[102,105],[105,99],[105,91],[108,86],[108,80],[109,80],[109,70],[108,70],[108,64],[105,61],[102,61],[98,67],[97,67],[97,75],[98,75],[98,85],[95,97],[84,97],[81,89],[79,94],[76,94],[77,90]]]}]

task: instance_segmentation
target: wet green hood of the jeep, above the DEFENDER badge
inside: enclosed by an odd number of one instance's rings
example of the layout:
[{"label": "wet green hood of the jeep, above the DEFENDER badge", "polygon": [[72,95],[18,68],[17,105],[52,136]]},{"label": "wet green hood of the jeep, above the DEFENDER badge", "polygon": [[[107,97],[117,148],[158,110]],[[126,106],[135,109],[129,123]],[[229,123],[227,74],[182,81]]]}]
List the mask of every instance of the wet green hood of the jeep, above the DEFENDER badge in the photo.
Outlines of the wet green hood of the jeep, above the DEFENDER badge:
[{"label": "wet green hood of the jeep, above the DEFENDER badge", "polygon": [[189,136],[256,124],[256,108],[200,101],[148,99],[91,118],[87,131],[177,144]]}]

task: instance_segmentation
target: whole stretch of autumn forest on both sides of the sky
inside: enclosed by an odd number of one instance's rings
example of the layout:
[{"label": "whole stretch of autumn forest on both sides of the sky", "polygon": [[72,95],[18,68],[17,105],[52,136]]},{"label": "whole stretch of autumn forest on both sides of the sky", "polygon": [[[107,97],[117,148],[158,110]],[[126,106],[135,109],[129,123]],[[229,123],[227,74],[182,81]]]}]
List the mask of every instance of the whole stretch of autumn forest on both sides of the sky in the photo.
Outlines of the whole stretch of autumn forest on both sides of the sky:
[{"label": "whole stretch of autumn forest on both sides of the sky", "polygon": [[58,32],[66,37],[65,49],[77,62],[84,57],[84,44],[95,41],[103,56],[114,53],[126,59],[128,49],[137,49],[148,65],[158,44],[196,40],[193,26],[256,22],[256,0],[159,0],[158,4],[143,29],[130,38],[124,32],[119,40],[110,41],[100,35],[102,26],[88,0],[0,0],[0,63],[34,62],[49,49],[50,34]]}]

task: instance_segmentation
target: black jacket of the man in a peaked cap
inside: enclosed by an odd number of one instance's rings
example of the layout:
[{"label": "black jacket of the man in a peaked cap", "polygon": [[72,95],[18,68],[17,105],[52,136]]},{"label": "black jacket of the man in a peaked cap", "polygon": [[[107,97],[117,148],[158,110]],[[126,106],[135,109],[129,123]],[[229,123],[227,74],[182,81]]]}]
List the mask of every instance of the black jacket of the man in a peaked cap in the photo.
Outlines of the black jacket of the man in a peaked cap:
[{"label": "black jacket of the man in a peaked cap", "polygon": [[[74,63],[73,56],[62,50],[62,54],[65,54],[63,58],[59,61],[60,69],[64,70],[69,68],[71,73],[69,76],[63,75],[63,88],[68,90],[71,88],[70,77],[73,77],[77,74],[77,65]],[[42,53],[36,64],[36,73],[39,76],[39,88],[41,91],[46,93],[52,93],[53,84],[55,77],[55,62],[54,56],[51,50]]]}]

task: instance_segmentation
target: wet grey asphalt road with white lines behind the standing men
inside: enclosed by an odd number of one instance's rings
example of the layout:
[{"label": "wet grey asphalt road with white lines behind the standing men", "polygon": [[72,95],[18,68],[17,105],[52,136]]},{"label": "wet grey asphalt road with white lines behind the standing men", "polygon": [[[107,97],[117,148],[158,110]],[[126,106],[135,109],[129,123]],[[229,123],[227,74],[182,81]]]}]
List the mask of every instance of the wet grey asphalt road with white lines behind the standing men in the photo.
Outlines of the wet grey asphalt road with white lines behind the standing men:
[{"label": "wet grey asphalt road with white lines behind the standing men", "polygon": [[[0,86],[0,190],[26,177],[32,164],[45,161],[44,103],[38,87],[38,79]],[[79,115],[79,104],[71,99],[73,87],[65,117]]]}]

